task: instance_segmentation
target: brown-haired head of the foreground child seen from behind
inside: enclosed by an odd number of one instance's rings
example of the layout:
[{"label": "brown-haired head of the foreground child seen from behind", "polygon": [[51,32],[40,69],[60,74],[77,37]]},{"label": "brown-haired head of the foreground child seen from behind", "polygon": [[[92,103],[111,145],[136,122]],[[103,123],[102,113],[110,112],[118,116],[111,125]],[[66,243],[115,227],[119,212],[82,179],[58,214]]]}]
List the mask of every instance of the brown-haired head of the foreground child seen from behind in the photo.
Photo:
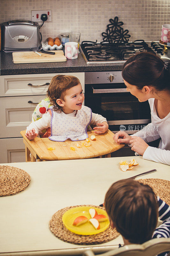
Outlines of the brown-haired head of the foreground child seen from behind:
[{"label": "brown-haired head of the foreground child seen from behind", "polygon": [[158,221],[158,202],[148,185],[119,180],[108,189],[104,204],[112,227],[130,243],[142,244],[152,238]]}]

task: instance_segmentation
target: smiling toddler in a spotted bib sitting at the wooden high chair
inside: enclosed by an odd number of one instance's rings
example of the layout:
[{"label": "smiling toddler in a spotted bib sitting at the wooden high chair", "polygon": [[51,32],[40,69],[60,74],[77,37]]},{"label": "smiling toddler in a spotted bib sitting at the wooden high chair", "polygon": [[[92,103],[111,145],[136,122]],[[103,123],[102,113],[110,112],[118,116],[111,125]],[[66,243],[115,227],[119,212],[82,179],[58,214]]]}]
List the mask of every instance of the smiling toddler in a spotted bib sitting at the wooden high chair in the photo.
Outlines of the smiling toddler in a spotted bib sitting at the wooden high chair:
[{"label": "smiling toddler in a spotted bib sitting at the wooden high chair", "polygon": [[95,125],[95,133],[107,131],[106,118],[92,113],[91,108],[82,105],[84,94],[80,81],[75,76],[54,76],[49,85],[48,98],[51,107],[41,117],[26,128],[26,137],[33,140],[44,128],[48,137],[54,141],[85,140],[88,138],[87,127]]}]

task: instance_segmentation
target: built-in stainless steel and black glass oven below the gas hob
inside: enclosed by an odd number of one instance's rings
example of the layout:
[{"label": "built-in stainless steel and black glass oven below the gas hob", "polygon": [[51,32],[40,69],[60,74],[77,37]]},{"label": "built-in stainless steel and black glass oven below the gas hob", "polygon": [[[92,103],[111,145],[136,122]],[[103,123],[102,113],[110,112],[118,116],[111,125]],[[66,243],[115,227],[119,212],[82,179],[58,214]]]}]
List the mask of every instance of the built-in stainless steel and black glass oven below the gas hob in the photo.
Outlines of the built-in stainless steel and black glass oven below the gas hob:
[{"label": "built-in stainless steel and black glass oven below the gas hob", "polygon": [[85,106],[106,117],[114,133],[133,134],[151,122],[148,101],[126,91],[121,71],[85,73]]}]

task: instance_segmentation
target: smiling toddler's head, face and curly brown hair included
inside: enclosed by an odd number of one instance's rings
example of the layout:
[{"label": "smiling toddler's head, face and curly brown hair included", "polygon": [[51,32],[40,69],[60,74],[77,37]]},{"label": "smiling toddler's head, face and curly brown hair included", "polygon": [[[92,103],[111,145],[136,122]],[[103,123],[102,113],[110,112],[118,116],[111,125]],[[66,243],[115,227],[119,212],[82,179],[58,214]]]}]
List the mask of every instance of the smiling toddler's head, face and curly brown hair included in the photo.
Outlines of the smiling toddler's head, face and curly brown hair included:
[{"label": "smiling toddler's head, face and curly brown hair included", "polygon": [[75,76],[54,76],[51,79],[47,94],[50,103],[54,106],[54,110],[61,110],[63,108],[78,110],[81,109],[84,101],[80,81]]}]

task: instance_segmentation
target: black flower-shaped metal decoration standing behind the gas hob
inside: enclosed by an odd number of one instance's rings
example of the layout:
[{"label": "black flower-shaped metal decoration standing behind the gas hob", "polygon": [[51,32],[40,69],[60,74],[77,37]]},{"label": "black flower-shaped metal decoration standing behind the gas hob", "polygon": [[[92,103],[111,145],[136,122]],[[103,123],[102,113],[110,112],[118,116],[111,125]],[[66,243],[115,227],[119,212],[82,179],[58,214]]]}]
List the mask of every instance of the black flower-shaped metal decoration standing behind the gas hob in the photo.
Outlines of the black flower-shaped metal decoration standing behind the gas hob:
[{"label": "black flower-shaped metal decoration standing behind the gas hob", "polygon": [[110,24],[107,25],[106,32],[101,33],[103,36],[103,41],[104,42],[109,42],[109,43],[128,43],[130,35],[128,29],[123,29],[123,22],[118,21],[119,18],[116,16],[113,19],[110,19]]}]

